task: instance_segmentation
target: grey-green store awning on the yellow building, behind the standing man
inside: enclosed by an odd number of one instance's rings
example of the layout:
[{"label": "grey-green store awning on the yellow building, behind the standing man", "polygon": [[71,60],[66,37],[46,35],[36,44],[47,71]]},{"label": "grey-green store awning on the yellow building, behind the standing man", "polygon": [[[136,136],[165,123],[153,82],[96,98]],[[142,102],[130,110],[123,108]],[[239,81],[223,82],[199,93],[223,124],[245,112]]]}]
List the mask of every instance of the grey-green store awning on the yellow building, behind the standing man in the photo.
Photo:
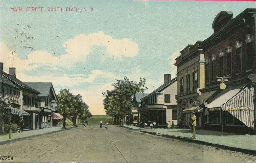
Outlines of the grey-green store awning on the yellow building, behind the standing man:
[{"label": "grey-green store awning on the yellow building, behind the standing man", "polygon": [[210,98],[216,91],[210,91],[210,92],[205,92],[202,93],[196,101],[191,103],[186,109],[184,109],[182,112],[183,113],[190,113],[192,111],[200,111],[200,106],[208,99]]}]

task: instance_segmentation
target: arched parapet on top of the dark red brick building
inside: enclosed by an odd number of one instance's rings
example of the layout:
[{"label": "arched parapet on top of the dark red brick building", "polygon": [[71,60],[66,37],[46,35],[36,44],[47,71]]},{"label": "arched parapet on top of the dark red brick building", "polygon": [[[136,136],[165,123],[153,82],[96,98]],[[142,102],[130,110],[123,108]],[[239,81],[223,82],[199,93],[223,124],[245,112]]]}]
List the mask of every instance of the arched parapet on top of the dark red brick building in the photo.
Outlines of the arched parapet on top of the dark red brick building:
[{"label": "arched parapet on top of the dark red brick building", "polygon": [[215,17],[212,28],[214,33],[218,32],[222,27],[227,25],[233,19],[233,12],[231,11],[221,11]]}]

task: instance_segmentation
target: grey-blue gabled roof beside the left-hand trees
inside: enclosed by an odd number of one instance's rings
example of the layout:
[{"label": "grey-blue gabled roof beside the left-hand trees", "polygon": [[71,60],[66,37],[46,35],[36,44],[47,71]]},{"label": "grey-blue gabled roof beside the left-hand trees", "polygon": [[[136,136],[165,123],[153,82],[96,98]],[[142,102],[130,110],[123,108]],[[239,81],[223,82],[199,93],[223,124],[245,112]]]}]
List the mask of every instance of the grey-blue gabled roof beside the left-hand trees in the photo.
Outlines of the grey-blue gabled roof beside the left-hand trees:
[{"label": "grey-blue gabled roof beside the left-hand trees", "polygon": [[51,93],[51,89],[52,89],[52,93],[53,93],[53,96],[55,98],[55,101],[58,102],[58,98],[56,96],[56,93],[53,89],[53,85],[52,83],[41,83],[41,82],[29,82],[29,83],[26,83],[27,85],[29,85],[30,87],[32,87],[33,89],[36,89],[37,91],[40,92],[40,94],[38,95],[38,97],[46,97],[46,96],[49,96],[49,94]]}]

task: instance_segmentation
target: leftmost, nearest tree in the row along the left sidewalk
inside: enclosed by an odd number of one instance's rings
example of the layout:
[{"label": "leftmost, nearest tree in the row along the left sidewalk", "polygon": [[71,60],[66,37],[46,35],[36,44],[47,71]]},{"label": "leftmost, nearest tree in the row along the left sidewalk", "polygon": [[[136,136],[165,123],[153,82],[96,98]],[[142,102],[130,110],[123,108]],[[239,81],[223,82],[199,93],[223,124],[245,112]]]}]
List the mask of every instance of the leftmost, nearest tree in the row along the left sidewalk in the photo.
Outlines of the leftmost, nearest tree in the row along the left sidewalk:
[{"label": "leftmost, nearest tree in the row along the left sidewalk", "polygon": [[66,118],[71,115],[72,104],[74,103],[74,95],[69,92],[69,89],[60,89],[58,93],[59,105],[57,110],[63,116],[63,127],[66,126]]}]

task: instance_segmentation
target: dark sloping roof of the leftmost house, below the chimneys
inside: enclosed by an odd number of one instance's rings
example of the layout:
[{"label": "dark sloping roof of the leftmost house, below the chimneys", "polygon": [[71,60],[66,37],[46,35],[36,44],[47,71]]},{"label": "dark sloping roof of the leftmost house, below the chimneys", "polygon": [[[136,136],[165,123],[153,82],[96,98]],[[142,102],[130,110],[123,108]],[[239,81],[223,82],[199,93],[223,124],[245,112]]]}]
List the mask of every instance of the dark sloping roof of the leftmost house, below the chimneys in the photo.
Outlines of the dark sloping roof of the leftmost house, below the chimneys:
[{"label": "dark sloping roof of the leftmost house, below the chimneys", "polygon": [[33,89],[32,87],[28,86],[26,83],[20,81],[19,79],[15,78],[14,76],[7,74],[6,72],[2,72],[1,75],[1,82],[8,84],[10,86],[20,88],[20,89],[28,89],[36,94],[39,94],[40,92],[37,91],[36,89]]}]

